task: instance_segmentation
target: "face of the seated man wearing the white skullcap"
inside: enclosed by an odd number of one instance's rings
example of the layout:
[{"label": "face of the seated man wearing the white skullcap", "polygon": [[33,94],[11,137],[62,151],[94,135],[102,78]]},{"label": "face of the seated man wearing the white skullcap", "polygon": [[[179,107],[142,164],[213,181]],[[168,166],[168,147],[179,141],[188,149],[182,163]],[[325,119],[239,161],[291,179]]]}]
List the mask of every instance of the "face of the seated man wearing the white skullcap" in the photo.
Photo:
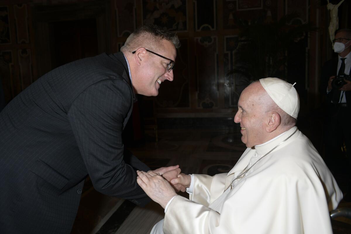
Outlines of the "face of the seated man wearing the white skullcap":
[{"label": "face of the seated man wearing the white skullcap", "polygon": [[261,105],[258,85],[260,83],[256,82],[244,89],[238,101],[238,112],[234,117],[234,122],[240,123],[241,141],[249,148],[263,144],[266,139],[264,124],[266,113]]}]

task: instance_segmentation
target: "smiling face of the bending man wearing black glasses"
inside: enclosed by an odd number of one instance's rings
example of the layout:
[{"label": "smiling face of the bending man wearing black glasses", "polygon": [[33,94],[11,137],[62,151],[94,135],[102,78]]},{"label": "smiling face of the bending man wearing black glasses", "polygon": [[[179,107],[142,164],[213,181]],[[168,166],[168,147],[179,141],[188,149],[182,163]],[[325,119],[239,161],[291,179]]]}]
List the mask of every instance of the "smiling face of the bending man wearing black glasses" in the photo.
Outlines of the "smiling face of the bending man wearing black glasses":
[{"label": "smiling face of the bending man wearing black glasses", "polygon": [[[173,61],[176,60],[177,52],[172,42],[163,40],[160,43],[160,48],[164,49],[160,50],[160,52],[154,52]],[[140,71],[141,85],[138,87],[137,93],[145,96],[157,96],[162,82],[173,80],[173,69],[169,72],[167,71],[169,63],[169,60],[147,52],[146,63],[143,64]]]}]

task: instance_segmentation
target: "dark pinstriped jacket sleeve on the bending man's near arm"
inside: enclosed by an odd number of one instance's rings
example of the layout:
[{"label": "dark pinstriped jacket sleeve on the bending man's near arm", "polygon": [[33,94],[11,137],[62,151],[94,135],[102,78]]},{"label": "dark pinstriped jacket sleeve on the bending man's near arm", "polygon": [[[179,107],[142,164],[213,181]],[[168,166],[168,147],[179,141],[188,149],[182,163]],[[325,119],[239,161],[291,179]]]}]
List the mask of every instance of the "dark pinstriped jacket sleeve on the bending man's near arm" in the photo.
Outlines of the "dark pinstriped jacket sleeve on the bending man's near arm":
[{"label": "dark pinstriped jacket sleeve on the bending man's near arm", "polygon": [[124,155],[121,134],[131,99],[123,79],[102,80],[74,100],[68,118],[94,188],[106,195],[148,201],[136,182],[135,169],[150,168],[134,155]]}]

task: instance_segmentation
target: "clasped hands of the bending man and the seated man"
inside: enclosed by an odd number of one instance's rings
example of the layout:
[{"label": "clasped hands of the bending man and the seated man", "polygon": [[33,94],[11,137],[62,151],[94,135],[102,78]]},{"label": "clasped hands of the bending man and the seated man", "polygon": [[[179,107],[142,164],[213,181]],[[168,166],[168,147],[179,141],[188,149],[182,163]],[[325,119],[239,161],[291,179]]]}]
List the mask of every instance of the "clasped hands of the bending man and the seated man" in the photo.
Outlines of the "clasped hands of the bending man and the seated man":
[{"label": "clasped hands of the bending man and the seated man", "polygon": [[176,192],[185,192],[190,186],[190,175],[180,172],[178,165],[148,172],[137,171],[137,183],[153,201],[165,208]]}]

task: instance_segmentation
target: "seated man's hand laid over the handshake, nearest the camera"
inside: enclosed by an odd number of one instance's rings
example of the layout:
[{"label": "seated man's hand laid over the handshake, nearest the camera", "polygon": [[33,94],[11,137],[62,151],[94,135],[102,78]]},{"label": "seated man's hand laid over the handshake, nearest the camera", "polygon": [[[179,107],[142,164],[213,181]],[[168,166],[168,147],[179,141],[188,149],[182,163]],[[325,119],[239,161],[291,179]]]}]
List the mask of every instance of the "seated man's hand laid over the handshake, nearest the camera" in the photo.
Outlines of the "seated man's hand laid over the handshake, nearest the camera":
[{"label": "seated man's hand laid over the handshake, nearest the camera", "polygon": [[166,208],[168,201],[173,196],[176,196],[176,192],[162,176],[149,171],[137,171],[138,185],[145,191],[145,193],[155,202],[159,203],[163,208]]}]

